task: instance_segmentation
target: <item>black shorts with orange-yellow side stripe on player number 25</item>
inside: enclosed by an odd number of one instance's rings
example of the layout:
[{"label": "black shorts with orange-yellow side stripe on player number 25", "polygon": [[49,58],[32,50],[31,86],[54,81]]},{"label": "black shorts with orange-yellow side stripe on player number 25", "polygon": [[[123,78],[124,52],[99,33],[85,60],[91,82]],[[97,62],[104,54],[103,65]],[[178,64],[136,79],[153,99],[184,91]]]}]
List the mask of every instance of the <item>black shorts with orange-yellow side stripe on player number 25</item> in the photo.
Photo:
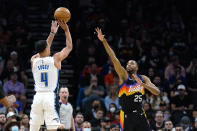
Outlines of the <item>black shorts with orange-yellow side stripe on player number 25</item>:
[{"label": "black shorts with orange-yellow side stripe on player number 25", "polygon": [[145,113],[134,110],[132,113],[120,112],[121,131],[150,131]]}]

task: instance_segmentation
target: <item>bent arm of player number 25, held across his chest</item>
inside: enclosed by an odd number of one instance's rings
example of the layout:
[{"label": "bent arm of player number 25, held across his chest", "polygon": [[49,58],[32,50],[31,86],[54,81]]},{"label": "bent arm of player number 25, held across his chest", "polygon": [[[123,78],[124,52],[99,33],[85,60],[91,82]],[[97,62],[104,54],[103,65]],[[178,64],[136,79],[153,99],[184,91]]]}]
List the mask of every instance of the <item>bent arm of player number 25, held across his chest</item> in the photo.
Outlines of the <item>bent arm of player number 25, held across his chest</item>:
[{"label": "bent arm of player number 25, held across his chest", "polygon": [[137,83],[139,83],[141,86],[149,90],[152,94],[154,95],[160,94],[160,90],[158,89],[158,87],[156,87],[147,76],[142,75],[142,78],[144,79],[144,83],[142,83],[142,81],[135,74],[132,74],[132,77],[137,81]]}]

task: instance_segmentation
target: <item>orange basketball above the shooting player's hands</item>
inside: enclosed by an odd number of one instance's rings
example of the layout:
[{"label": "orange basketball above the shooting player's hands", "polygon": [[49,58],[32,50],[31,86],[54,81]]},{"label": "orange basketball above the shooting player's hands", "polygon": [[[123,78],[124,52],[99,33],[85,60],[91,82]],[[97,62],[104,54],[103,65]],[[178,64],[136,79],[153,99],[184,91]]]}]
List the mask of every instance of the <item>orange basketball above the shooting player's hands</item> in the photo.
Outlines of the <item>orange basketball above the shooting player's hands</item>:
[{"label": "orange basketball above the shooting player's hands", "polygon": [[54,18],[56,20],[65,20],[66,22],[68,22],[70,20],[70,17],[70,11],[65,7],[59,7],[54,12]]}]

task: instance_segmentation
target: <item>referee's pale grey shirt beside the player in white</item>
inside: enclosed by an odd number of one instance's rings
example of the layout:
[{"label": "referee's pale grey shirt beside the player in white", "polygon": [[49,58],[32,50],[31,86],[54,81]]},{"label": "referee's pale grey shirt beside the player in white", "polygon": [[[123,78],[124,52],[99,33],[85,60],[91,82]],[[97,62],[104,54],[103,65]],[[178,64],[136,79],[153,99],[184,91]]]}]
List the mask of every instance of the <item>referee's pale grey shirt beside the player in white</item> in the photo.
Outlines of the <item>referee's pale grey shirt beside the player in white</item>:
[{"label": "referee's pale grey shirt beside the player in white", "polygon": [[65,129],[71,129],[73,108],[70,103],[60,105],[60,123],[64,124]]}]

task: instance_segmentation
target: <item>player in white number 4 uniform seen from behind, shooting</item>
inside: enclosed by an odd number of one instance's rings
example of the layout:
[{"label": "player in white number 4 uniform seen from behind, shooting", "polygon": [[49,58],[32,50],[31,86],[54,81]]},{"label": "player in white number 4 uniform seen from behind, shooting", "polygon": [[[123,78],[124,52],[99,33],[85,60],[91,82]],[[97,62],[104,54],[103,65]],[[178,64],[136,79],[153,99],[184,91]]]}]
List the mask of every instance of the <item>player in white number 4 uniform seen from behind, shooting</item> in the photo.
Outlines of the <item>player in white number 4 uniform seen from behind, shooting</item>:
[{"label": "player in white number 4 uniform seen from behind, shooting", "polygon": [[[65,31],[66,47],[50,56],[50,47],[58,31],[58,25]],[[69,28],[64,21],[52,21],[51,33],[47,40],[36,43],[36,55],[31,58],[31,66],[35,81],[36,94],[30,112],[30,131],[39,131],[40,125],[45,124],[48,131],[63,128],[56,109],[56,91],[58,90],[58,71],[63,61],[72,50],[72,38]]]}]

